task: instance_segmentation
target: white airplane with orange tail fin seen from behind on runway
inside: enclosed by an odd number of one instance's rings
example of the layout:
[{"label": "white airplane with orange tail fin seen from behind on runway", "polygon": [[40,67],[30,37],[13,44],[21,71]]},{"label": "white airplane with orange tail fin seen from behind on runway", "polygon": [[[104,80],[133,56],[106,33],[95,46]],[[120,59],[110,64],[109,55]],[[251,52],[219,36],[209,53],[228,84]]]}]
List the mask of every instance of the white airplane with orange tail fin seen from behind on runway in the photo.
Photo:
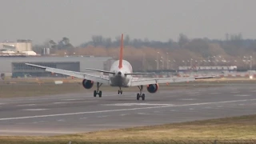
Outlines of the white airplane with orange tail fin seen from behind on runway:
[{"label": "white airplane with orange tail fin seen from behind on runway", "polygon": [[34,65],[31,63],[25,63],[25,64],[28,66],[34,66],[34,67],[44,69],[51,73],[65,74],[68,76],[72,76],[74,78],[81,78],[82,86],[87,90],[91,89],[94,86],[94,83],[96,83],[96,90],[94,90],[94,97],[98,95],[99,98],[102,97],[102,90],[99,90],[102,84],[119,87],[118,94],[122,94],[122,87],[138,86],[139,93],[137,94],[137,100],[142,98],[142,100],[144,101],[145,94],[142,93],[144,86],[146,86],[146,90],[149,93],[153,94],[158,91],[158,87],[159,87],[158,84],[161,84],[161,83],[188,82],[188,81],[194,81],[196,79],[201,79],[201,78],[214,77],[214,76],[210,76],[210,77],[187,77],[187,78],[134,78],[133,75],[154,74],[154,73],[134,73],[133,72],[133,67],[131,66],[130,62],[127,62],[122,58],[123,57],[123,34],[121,37],[121,46],[120,46],[119,53],[120,53],[119,60],[115,61],[112,64],[112,66],[110,67],[110,71],[86,68],[86,70],[93,70],[96,72],[101,72],[103,74],[104,73],[109,74],[108,78],[104,78],[101,75],[56,69],[56,68],[47,67],[47,66]]}]

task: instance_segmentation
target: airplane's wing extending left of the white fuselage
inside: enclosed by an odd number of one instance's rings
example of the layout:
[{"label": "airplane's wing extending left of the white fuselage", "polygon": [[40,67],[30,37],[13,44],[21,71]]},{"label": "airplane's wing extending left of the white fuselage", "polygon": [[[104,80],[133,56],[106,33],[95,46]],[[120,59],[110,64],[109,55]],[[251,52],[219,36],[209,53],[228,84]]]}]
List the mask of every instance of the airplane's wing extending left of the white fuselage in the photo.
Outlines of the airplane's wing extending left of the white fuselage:
[{"label": "airplane's wing extending left of the white fuselage", "polygon": [[108,78],[102,78],[100,75],[86,74],[86,73],[70,71],[70,70],[61,70],[61,69],[56,69],[56,68],[47,67],[47,66],[38,66],[30,63],[25,63],[25,64],[28,66],[41,68],[52,73],[65,74],[75,78],[82,78],[82,79],[86,79],[94,82],[100,82],[102,84],[107,84],[107,85],[110,83],[110,80]]}]

